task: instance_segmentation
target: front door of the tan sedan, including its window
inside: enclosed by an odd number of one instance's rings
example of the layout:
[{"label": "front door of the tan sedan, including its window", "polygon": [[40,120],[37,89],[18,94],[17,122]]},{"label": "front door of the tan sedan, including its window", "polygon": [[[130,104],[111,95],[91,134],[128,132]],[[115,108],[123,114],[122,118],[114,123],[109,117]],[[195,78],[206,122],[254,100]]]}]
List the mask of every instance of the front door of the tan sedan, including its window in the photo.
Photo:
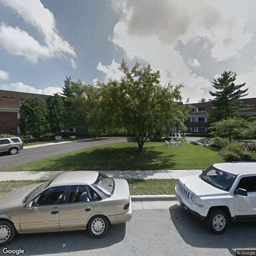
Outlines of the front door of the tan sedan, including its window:
[{"label": "front door of the tan sedan, including its window", "polygon": [[44,190],[33,200],[32,208],[24,207],[20,214],[23,232],[47,232],[60,230],[59,215],[66,186]]}]

